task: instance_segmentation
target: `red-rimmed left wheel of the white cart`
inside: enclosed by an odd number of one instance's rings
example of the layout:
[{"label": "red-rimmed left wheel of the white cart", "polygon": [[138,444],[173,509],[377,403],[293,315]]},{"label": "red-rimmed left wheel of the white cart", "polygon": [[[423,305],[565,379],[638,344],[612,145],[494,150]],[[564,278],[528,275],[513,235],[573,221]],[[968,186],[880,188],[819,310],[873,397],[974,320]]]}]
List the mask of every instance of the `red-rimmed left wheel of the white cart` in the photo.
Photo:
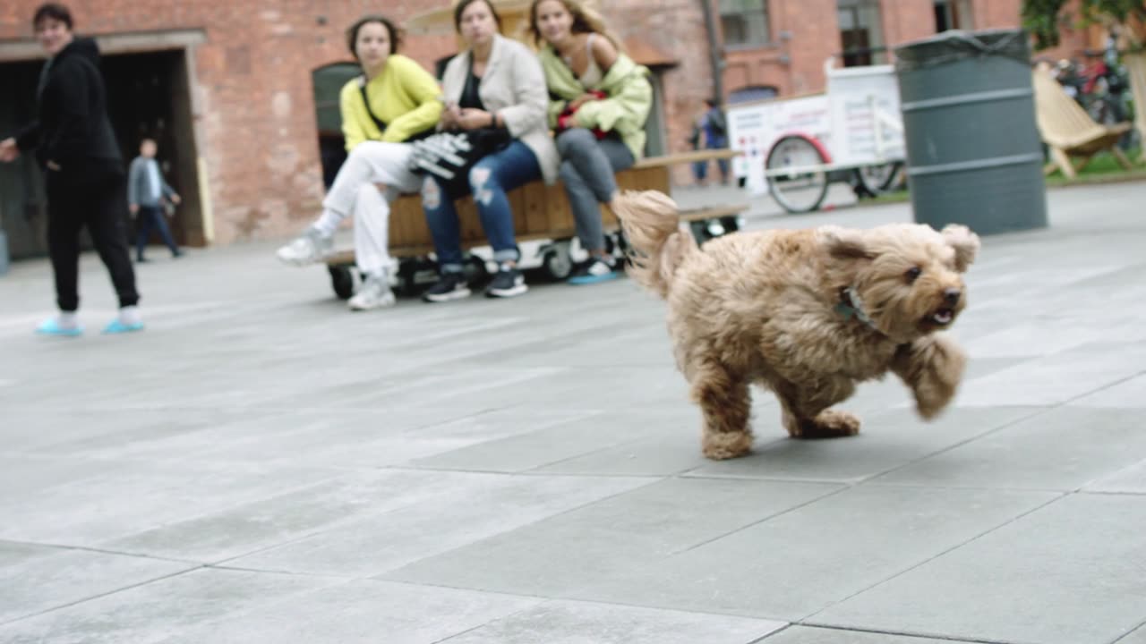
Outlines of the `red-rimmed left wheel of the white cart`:
[{"label": "red-rimmed left wheel of the white cart", "polygon": [[[811,212],[824,203],[827,196],[827,173],[823,170],[799,171],[798,168],[824,165],[827,159],[819,148],[807,136],[790,134],[784,136],[768,151],[764,170],[769,172],[768,189],[788,212]],[[785,168],[798,172],[778,172]]]}]

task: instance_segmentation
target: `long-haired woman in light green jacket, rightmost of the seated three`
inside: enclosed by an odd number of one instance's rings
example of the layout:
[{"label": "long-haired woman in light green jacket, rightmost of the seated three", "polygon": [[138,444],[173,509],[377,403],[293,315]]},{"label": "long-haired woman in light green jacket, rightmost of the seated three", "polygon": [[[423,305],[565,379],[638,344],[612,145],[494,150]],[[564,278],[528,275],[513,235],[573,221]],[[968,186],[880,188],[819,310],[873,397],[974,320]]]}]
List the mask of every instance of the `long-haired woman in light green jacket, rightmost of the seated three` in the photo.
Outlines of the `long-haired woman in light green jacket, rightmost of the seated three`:
[{"label": "long-haired woman in light green jacket, rightmost of the seated three", "polygon": [[612,280],[617,264],[605,253],[599,204],[617,197],[613,174],[644,154],[652,107],[649,70],[626,56],[601,16],[576,0],[534,0],[529,32],[549,86],[560,178],[578,238],[590,254],[570,283]]}]

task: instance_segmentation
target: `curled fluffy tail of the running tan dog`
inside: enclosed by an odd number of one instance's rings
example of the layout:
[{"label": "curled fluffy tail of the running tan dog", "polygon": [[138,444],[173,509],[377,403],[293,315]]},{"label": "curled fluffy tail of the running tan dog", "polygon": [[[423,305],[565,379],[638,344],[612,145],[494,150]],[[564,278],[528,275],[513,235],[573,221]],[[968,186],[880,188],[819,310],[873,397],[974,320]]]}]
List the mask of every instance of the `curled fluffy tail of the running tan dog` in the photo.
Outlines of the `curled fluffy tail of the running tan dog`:
[{"label": "curled fluffy tail of the running tan dog", "polygon": [[627,190],[614,205],[630,246],[629,275],[666,297],[676,267],[697,251],[697,241],[681,226],[676,202],[657,190]]}]

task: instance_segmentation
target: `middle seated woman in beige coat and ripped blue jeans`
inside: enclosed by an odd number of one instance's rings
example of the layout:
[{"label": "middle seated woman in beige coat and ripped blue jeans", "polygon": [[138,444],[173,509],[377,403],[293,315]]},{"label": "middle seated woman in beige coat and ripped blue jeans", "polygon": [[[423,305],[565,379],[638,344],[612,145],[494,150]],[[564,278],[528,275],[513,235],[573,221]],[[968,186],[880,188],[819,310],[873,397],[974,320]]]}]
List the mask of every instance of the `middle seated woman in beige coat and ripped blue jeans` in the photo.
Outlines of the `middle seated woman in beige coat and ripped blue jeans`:
[{"label": "middle seated woman in beige coat and ripped blue jeans", "polygon": [[[549,94],[541,63],[529,49],[499,34],[501,18],[487,0],[462,0],[454,24],[469,48],[454,56],[442,74],[446,109],[441,129],[503,131],[503,141],[461,181],[429,174],[422,207],[433,236],[441,277],[425,292],[426,301],[449,301],[470,294],[462,274],[462,244],[454,199],[473,195],[481,226],[493,246],[499,270],[486,289],[489,297],[526,291],[517,268],[519,251],[507,193],[537,179],[552,183],[559,158],[549,136]],[[489,131],[486,129],[488,133]]]}]

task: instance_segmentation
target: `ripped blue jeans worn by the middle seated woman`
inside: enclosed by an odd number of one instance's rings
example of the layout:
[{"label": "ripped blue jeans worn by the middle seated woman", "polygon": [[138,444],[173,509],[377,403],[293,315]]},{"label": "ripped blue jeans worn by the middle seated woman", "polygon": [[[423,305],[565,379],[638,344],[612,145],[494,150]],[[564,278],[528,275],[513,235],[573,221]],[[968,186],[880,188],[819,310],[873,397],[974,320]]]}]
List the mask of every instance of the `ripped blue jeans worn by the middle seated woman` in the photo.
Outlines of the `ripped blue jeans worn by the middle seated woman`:
[{"label": "ripped blue jeans worn by the middle seated woman", "polygon": [[470,168],[469,182],[446,182],[427,174],[422,184],[422,210],[433,236],[434,252],[442,273],[462,272],[462,233],[454,199],[473,195],[481,228],[494,250],[495,261],[517,261],[513,212],[505,193],[541,179],[533,150],[520,141],[482,157]]}]

